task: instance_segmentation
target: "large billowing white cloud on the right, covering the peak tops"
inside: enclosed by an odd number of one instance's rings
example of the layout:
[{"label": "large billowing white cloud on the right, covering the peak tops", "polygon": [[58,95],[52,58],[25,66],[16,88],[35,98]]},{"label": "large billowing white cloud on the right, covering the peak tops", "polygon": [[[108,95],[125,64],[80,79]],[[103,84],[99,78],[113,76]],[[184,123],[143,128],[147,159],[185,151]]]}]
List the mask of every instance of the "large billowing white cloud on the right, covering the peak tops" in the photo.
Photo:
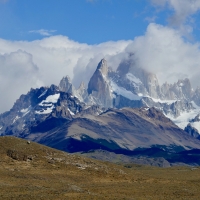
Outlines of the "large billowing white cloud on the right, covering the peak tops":
[{"label": "large billowing white cloud on the right, covering the peak tops", "polygon": [[126,51],[134,52],[136,64],[156,73],[160,83],[188,77],[197,86],[200,85],[199,47],[185,42],[179,31],[152,23],[146,34],[135,38]]}]

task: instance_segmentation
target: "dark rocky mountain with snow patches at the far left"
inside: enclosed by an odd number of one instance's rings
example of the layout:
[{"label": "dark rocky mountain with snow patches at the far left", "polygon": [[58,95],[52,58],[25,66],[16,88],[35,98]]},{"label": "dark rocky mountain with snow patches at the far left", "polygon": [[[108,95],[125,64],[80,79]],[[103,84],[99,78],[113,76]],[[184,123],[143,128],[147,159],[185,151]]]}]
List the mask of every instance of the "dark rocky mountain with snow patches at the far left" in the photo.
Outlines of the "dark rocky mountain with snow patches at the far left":
[{"label": "dark rocky mountain with snow patches at the far left", "polygon": [[51,121],[56,126],[71,121],[84,106],[76,97],[59,91],[55,85],[31,89],[20,96],[10,111],[0,115],[0,134],[25,137],[31,127],[47,126],[51,118],[56,119]]}]

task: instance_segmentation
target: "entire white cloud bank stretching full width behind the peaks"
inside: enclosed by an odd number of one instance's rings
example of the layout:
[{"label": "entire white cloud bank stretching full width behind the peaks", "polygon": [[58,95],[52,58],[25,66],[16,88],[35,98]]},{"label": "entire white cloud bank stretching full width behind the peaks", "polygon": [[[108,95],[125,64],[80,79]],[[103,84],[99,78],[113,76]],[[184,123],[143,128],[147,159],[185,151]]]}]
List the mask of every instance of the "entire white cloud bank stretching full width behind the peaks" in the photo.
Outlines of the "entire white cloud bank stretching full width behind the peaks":
[{"label": "entire white cloud bank stretching full width behind the peaks", "polygon": [[96,45],[62,35],[32,42],[0,39],[0,112],[10,109],[31,87],[58,85],[66,75],[76,87],[82,81],[87,85],[102,58],[117,69],[130,54],[136,65],[157,74],[160,83],[187,77],[194,87],[200,86],[199,49],[198,43],[186,42],[180,31],[155,23],[134,40]]}]

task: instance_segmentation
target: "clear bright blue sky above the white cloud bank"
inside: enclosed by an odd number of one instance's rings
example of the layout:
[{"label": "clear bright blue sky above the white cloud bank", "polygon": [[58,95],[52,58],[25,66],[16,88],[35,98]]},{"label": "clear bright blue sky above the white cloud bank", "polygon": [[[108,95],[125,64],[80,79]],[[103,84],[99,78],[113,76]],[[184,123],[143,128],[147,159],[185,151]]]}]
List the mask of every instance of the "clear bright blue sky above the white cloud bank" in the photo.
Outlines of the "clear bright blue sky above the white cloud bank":
[{"label": "clear bright blue sky above the white cloud bank", "polygon": [[150,22],[166,25],[167,16],[173,11],[159,10],[149,0],[0,2],[0,37],[8,40],[30,41],[48,34],[65,35],[88,44],[129,40],[143,35]]}]

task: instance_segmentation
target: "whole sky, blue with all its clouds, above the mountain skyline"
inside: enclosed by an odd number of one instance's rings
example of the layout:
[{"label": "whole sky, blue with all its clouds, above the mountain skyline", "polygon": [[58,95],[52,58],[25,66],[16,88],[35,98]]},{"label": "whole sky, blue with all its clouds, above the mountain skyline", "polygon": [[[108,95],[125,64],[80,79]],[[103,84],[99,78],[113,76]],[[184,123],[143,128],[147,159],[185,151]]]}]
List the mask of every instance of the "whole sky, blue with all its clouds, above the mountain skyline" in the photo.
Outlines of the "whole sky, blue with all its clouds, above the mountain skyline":
[{"label": "whole sky, blue with all its clouds, above the mountain skyline", "polygon": [[86,86],[98,62],[134,54],[160,84],[200,86],[200,0],[0,0],[0,112],[31,87],[69,75]]}]

